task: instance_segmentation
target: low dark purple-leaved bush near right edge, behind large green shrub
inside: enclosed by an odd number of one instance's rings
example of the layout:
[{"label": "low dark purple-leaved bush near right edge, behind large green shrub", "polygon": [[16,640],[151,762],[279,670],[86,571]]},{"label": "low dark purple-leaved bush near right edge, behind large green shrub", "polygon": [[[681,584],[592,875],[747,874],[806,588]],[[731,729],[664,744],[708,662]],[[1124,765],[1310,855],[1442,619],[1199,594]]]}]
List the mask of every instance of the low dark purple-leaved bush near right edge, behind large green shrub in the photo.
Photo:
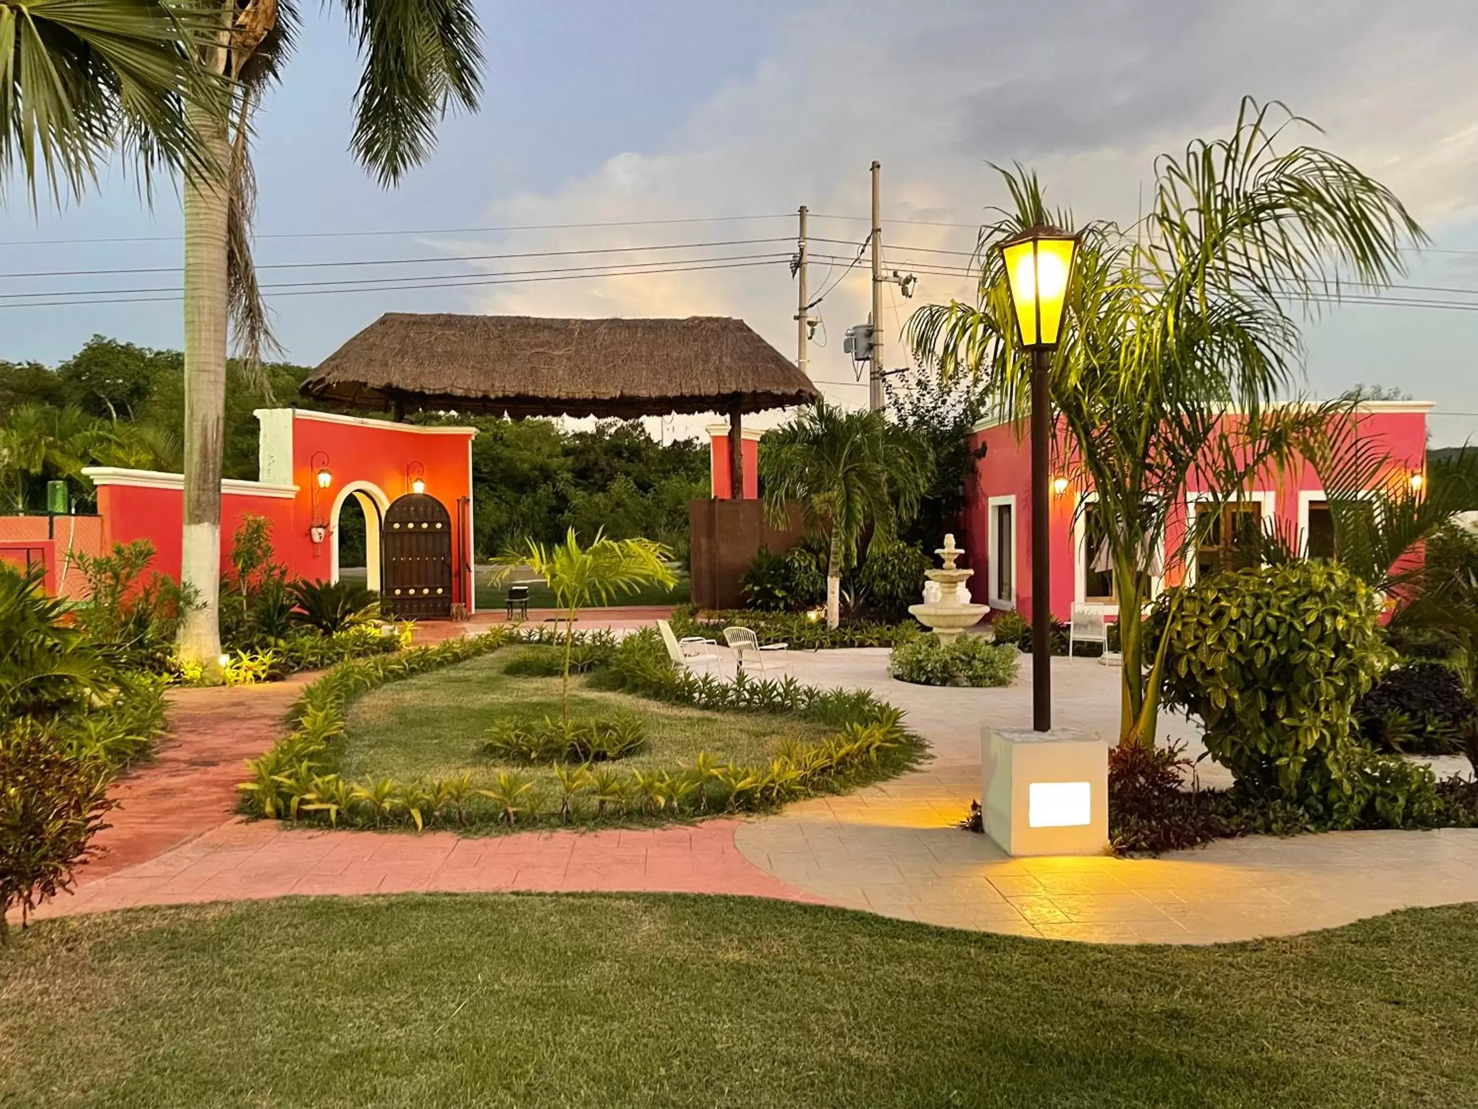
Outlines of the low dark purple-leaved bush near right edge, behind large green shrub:
[{"label": "low dark purple-leaved bush near right edge, behind large green shrub", "polygon": [[1448,754],[1475,711],[1457,671],[1441,662],[1410,662],[1385,673],[1355,705],[1355,719],[1375,747]]}]

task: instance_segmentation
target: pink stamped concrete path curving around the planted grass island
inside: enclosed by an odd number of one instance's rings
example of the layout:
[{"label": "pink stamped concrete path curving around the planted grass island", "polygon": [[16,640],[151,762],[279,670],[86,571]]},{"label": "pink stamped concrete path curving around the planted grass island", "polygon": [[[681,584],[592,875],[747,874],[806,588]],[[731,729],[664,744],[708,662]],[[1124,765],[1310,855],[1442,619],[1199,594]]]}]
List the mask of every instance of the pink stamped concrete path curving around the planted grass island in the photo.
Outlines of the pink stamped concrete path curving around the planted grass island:
[{"label": "pink stamped concrete path curving around the planted grass island", "polygon": [[739,821],[643,831],[309,831],[234,816],[244,760],[268,747],[310,676],[241,689],[170,693],[173,735],[124,776],[103,853],[77,892],[37,917],[136,905],[411,890],[643,890],[736,893],[820,902],[748,862]]}]

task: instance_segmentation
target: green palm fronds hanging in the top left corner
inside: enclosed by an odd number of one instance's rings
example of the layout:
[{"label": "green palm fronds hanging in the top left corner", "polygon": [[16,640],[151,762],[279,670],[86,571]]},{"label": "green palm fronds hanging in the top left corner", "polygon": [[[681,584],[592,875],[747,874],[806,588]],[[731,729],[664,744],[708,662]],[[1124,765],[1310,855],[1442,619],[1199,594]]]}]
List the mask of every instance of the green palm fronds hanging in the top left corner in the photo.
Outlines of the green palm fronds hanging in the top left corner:
[{"label": "green palm fronds hanging in the top left corner", "polygon": [[148,194],[154,173],[216,166],[186,123],[214,111],[219,83],[194,62],[195,16],[163,0],[30,0],[0,4],[0,183],[16,170],[81,198],[121,151]]}]

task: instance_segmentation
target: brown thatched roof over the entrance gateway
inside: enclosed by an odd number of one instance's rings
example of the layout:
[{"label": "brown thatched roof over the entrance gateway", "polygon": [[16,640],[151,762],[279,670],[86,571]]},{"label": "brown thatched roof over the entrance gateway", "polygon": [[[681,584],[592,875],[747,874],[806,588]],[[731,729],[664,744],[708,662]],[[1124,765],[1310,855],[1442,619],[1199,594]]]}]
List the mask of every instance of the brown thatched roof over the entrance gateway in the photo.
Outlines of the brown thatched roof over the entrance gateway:
[{"label": "brown thatched roof over the entrance gateway", "polygon": [[810,404],[806,376],[742,319],[387,312],[302,392],[355,408],[511,416],[746,413]]}]

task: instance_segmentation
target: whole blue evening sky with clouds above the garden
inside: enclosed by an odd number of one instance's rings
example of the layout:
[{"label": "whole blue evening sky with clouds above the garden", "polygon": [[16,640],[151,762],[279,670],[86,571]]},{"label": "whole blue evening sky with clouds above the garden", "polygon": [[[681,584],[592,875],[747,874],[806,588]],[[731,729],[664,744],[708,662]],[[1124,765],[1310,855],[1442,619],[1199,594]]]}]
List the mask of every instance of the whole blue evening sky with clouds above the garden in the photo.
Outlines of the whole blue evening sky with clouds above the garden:
[{"label": "whole blue evening sky with clouds above the garden", "polygon": [[[1400,0],[488,0],[479,12],[480,111],[446,120],[430,163],[386,191],[347,152],[355,46],[331,6],[304,6],[254,155],[257,262],[288,359],[316,364],[387,311],[732,315],[794,358],[786,259],[806,204],[811,290],[826,291],[811,376],[865,404],[841,347],[869,308],[866,262],[847,263],[866,237],[873,160],[885,269],[939,271],[965,257],[936,251],[968,253],[1005,203],[992,164],[1030,166],[1080,222],[1129,222],[1156,155],[1227,133],[1244,95],[1318,124],[1298,140],[1351,158],[1423,225],[1429,247],[1400,279],[1423,288],[1388,299],[1478,306],[1471,0],[1423,0],[1420,19]],[[3,206],[0,358],[56,362],[95,333],[180,345],[168,182],[148,203],[114,172],[80,203],[43,197],[35,210],[10,182]],[[568,226],[591,223],[606,226]],[[545,229],[505,229],[531,226]],[[344,262],[383,265],[324,265]],[[634,262],[644,272],[588,277]],[[106,272],[120,269],[158,272]],[[103,272],[28,277],[61,271]],[[399,287],[303,284],[371,278]],[[912,300],[887,287],[888,367],[906,362],[896,340],[913,308],[970,290],[939,272],[919,274]],[[127,303],[50,303],[78,299]],[[1308,392],[1395,387],[1437,404],[1434,445],[1478,433],[1478,311],[1342,305],[1305,340]]]}]

